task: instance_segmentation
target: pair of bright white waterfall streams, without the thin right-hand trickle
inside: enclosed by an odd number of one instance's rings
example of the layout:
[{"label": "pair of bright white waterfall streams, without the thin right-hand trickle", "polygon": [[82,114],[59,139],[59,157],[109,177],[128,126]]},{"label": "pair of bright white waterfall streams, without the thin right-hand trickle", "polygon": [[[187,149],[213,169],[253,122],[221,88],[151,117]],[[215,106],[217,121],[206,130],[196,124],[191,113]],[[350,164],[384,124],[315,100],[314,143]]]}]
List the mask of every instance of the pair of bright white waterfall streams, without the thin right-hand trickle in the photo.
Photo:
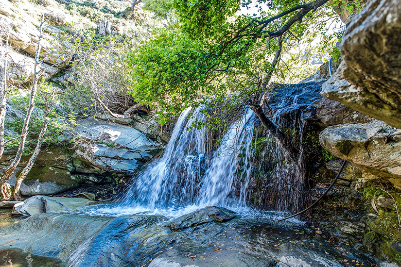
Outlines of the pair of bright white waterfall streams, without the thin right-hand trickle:
[{"label": "pair of bright white waterfall streams, without the thin right-hand trickle", "polygon": [[[131,184],[122,206],[155,210],[179,209],[185,205],[196,208],[245,205],[255,115],[248,109],[231,125],[208,166],[206,130],[189,130],[194,121],[205,119],[200,112],[202,108],[198,107],[187,122],[191,108],[181,113],[163,156]],[[240,184],[235,185],[235,181]],[[232,192],[236,187],[241,188],[238,197]]]}]

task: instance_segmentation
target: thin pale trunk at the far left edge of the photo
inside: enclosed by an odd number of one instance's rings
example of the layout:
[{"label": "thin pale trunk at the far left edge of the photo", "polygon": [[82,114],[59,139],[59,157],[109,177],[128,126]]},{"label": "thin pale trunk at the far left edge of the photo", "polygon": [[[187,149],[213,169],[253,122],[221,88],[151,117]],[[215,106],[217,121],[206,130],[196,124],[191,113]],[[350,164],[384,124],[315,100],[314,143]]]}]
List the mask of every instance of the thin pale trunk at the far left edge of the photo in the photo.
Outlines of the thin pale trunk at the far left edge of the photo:
[{"label": "thin pale trunk at the far left edge of the photo", "polygon": [[[5,48],[8,46],[8,37],[5,42]],[[0,73],[0,159],[4,152],[4,121],[5,121],[5,113],[6,113],[6,91],[7,91],[7,52],[6,50],[2,50],[1,58],[4,60],[3,65],[1,66],[1,73]]]}]

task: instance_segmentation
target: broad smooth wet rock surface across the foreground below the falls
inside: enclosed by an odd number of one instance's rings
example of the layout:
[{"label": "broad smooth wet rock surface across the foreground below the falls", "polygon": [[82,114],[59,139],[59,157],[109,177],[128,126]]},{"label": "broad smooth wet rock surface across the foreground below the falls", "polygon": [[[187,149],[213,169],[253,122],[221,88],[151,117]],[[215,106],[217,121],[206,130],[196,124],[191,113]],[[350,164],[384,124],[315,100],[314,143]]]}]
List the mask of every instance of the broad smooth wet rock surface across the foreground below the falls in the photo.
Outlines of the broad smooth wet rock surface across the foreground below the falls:
[{"label": "broad smooth wet rock surface across the foreground below the falls", "polygon": [[[1,228],[0,249],[12,247],[57,257],[77,267],[340,267],[351,261],[376,266],[372,258],[348,245],[334,245],[295,225],[292,230],[273,225],[271,217],[236,216],[226,222],[205,222],[211,208],[213,214],[228,212],[208,207],[185,215],[176,220],[190,226],[174,231],[163,216],[37,214]],[[202,213],[206,216],[199,217]],[[30,231],[33,227],[35,231]]]}]

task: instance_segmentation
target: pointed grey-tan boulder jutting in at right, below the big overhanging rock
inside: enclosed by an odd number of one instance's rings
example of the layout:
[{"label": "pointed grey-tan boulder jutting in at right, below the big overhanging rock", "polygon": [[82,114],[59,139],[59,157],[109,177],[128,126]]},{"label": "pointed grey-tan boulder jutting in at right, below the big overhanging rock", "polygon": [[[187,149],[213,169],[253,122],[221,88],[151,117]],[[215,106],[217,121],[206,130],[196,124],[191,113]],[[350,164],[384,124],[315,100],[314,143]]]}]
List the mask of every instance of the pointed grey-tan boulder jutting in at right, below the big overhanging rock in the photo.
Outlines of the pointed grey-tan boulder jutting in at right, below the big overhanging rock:
[{"label": "pointed grey-tan boulder jutting in at right, below the big overhanging rock", "polygon": [[401,188],[401,130],[375,120],[328,127],[319,139],[333,155]]}]

